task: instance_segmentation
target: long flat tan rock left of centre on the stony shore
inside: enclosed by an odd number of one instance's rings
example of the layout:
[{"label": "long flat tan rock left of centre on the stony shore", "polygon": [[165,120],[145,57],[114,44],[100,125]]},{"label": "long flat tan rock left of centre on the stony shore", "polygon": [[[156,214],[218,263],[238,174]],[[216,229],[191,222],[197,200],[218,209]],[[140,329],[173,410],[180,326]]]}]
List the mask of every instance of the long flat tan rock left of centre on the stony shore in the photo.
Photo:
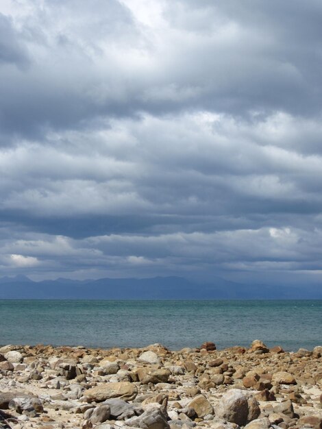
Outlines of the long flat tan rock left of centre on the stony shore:
[{"label": "long flat tan rock left of centre on the stony shore", "polygon": [[110,382],[92,387],[84,392],[84,396],[89,402],[102,402],[112,397],[119,397],[123,400],[134,400],[138,394],[135,384],[130,382]]}]

